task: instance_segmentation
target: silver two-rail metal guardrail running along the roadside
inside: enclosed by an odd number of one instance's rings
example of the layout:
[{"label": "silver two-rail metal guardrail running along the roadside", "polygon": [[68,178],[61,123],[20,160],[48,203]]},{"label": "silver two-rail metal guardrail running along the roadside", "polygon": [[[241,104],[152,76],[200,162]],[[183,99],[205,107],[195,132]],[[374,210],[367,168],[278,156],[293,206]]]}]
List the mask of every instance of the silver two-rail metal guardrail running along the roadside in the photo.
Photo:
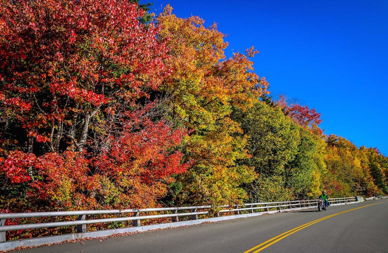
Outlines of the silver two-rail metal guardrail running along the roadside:
[{"label": "silver two-rail metal guardrail running along the roadside", "polygon": [[[334,198],[329,199],[330,203],[347,203],[356,201],[355,197],[351,198]],[[269,208],[276,208],[281,211],[283,209],[290,209],[295,207],[315,206],[317,199],[310,200],[294,200],[294,201],[280,201],[280,202],[265,202],[265,203],[248,203],[243,205],[236,205],[232,209],[223,209],[214,213],[214,217],[220,217],[220,213],[234,212],[235,215],[241,214],[241,211],[248,211],[254,213],[255,210],[268,211]],[[219,206],[220,208],[230,207],[229,205]],[[144,208],[144,209],[125,209],[125,210],[80,210],[80,211],[51,211],[51,212],[34,212],[34,213],[0,213],[0,243],[5,242],[5,232],[21,229],[38,229],[48,227],[62,227],[69,225],[76,225],[76,232],[87,232],[87,224],[107,223],[107,222],[121,222],[132,220],[133,226],[140,226],[140,220],[169,218],[172,222],[178,222],[179,217],[191,216],[192,220],[197,220],[198,215],[209,213],[209,211],[197,211],[210,209],[211,206],[182,206],[182,207],[166,207],[166,208]],[[180,210],[190,210],[186,213],[178,213]],[[168,214],[158,215],[142,215],[140,213],[154,212],[154,211],[171,211]],[[133,213],[129,217],[117,218],[101,218],[85,220],[86,215],[99,214],[123,214]],[[62,221],[62,222],[42,222],[33,224],[19,224],[19,225],[5,225],[6,219],[12,218],[33,218],[33,217],[59,217],[59,216],[77,216],[77,220]]]}]

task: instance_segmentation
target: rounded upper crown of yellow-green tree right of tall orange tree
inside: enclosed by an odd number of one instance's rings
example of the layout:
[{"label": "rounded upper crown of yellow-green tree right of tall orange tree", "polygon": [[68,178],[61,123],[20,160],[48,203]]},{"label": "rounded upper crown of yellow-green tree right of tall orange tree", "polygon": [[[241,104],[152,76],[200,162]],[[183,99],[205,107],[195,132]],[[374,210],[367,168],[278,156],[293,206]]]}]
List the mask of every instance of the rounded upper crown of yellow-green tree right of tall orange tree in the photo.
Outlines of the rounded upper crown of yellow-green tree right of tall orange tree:
[{"label": "rounded upper crown of yellow-green tree right of tall orange tree", "polygon": [[246,162],[260,175],[286,176],[285,165],[294,159],[300,142],[298,126],[284,116],[280,108],[272,108],[256,100],[251,108],[235,108],[234,119],[248,135],[251,158]]}]

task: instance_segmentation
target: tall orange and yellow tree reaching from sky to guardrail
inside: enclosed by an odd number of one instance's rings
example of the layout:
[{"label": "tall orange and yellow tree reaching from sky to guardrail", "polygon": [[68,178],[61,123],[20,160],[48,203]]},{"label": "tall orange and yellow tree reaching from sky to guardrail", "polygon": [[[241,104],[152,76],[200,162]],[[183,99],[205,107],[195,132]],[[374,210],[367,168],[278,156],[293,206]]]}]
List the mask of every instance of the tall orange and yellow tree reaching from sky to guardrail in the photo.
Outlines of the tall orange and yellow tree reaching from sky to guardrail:
[{"label": "tall orange and yellow tree reaching from sky to guardrail", "polygon": [[230,119],[231,106],[249,107],[253,95],[266,92],[268,84],[253,72],[253,48],[224,59],[227,43],[216,24],[206,28],[203,19],[178,18],[171,10],[167,6],[156,21],[163,27],[160,38],[169,38],[166,66],[172,70],[161,92],[171,118],[189,131],[185,154],[194,161],[179,178],[184,183],[181,201],[234,203],[245,198],[240,185],[255,173],[236,162],[248,155],[244,137],[236,135],[242,130]]}]

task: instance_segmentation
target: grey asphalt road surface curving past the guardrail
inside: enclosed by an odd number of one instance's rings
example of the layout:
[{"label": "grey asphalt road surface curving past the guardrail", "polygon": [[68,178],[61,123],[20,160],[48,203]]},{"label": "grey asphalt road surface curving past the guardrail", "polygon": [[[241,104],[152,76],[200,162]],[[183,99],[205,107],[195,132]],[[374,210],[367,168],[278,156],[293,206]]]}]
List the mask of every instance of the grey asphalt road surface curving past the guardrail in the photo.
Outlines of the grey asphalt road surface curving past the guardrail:
[{"label": "grey asphalt road surface curving past the guardrail", "polygon": [[[355,208],[358,209],[352,210]],[[303,224],[307,225],[300,227]],[[279,236],[284,232],[287,233]],[[276,238],[256,247],[273,237]],[[83,243],[21,252],[388,252],[388,200],[329,206],[327,211],[321,212],[316,208],[276,213]]]}]

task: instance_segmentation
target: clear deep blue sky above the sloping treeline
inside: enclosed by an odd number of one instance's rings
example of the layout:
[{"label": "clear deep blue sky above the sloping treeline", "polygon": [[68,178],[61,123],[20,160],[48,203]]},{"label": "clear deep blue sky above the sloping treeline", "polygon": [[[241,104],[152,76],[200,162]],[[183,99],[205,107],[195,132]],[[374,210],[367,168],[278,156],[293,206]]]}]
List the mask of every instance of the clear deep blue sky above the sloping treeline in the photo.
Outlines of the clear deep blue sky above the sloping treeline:
[{"label": "clear deep blue sky above the sloping treeline", "polygon": [[153,2],[156,14],[170,3],[178,17],[216,22],[227,56],[254,45],[272,94],[314,107],[325,133],[388,155],[388,1]]}]

